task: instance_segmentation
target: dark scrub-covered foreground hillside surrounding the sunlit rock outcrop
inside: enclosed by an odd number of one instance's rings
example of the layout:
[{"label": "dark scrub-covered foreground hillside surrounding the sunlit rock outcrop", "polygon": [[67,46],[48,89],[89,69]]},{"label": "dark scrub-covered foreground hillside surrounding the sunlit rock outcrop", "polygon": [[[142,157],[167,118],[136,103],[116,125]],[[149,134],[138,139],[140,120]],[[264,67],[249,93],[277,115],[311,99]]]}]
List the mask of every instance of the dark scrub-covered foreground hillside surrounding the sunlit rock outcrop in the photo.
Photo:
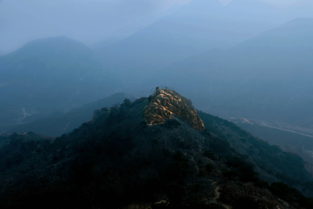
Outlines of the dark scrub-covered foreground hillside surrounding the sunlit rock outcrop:
[{"label": "dark scrub-covered foreground hillside surrounding the sunlit rock outcrop", "polygon": [[157,208],[159,201],[159,208],[312,207],[303,195],[313,194],[312,178],[299,156],[198,115],[191,103],[189,114],[206,129],[176,114],[147,125],[143,113],[154,114],[147,109],[154,102],[152,95],[104,107],[54,142],[34,133],[2,137],[1,207]]}]

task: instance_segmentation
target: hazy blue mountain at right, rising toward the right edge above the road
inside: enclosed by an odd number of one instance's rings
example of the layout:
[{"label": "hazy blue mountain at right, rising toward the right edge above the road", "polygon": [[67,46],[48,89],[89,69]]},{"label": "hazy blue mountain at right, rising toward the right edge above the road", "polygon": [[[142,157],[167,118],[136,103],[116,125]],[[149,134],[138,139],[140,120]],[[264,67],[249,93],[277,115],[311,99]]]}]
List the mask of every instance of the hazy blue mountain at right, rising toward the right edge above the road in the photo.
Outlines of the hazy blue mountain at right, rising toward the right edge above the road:
[{"label": "hazy blue mountain at right, rising toward the right edge above the road", "polygon": [[178,86],[199,109],[223,118],[295,123],[312,117],[312,33],[312,18],[294,19],[231,49],[177,62],[164,70],[175,80],[158,73],[155,82]]}]

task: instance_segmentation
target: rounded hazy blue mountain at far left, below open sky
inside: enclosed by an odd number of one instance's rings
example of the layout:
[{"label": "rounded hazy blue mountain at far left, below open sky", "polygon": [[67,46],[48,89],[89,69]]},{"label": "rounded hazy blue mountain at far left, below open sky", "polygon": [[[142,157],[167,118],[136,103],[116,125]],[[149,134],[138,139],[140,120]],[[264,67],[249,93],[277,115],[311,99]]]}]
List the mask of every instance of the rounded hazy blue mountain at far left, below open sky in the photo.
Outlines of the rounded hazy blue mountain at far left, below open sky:
[{"label": "rounded hazy blue mountain at far left, below open sky", "polygon": [[108,68],[93,57],[65,36],[34,40],[0,57],[0,124],[68,110],[116,91]]}]

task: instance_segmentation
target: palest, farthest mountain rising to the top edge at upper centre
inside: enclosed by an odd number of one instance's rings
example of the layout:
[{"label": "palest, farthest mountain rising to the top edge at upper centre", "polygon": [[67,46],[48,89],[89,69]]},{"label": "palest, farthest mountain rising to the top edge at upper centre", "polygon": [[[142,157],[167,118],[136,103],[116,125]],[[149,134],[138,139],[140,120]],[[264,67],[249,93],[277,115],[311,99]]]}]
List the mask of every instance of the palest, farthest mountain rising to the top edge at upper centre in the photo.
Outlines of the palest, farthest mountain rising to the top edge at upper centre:
[{"label": "palest, farthest mountain rising to the top edge at upper centre", "polygon": [[226,6],[218,0],[193,0],[100,53],[121,73],[146,76],[147,68],[159,70],[212,48],[227,49],[292,18],[258,0],[233,0]]}]

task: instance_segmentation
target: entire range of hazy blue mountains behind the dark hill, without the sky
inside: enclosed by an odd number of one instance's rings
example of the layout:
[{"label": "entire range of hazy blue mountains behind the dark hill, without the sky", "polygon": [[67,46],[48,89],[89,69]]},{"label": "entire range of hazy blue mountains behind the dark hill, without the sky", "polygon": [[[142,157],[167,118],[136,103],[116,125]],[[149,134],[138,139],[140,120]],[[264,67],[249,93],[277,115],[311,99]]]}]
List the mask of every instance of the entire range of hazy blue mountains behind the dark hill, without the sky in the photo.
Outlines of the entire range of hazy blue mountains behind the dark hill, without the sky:
[{"label": "entire range of hazy blue mountains behind the dark hill, without the sky", "polygon": [[[310,8],[309,2],[303,4]],[[310,18],[283,24],[310,16],[297,14],[296,8],[257,0],[225,6],[194,0],[97,50],[67,37],[34,40],[0,57],[0,130],[115,92],[147,96],[154,86],[164,85],[223,118],[303,126],[312,118],[306,114],[312,25]],[[262,33],[267,29],[272,30]]]}]

